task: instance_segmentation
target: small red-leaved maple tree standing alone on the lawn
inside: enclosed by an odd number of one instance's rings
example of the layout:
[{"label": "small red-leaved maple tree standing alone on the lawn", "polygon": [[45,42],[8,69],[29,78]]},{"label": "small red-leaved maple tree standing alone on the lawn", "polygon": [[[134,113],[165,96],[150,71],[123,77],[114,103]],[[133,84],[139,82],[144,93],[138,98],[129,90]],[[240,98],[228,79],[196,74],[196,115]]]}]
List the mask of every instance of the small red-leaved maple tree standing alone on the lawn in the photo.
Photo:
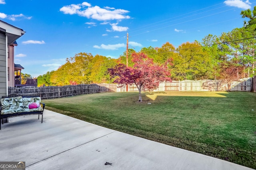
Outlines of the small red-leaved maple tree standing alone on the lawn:
[{"label": "small red-leaved maple tree standing alone on the lawn", "polygon": [[117,64],[113,68],[109,68],[110,77],[114,78],[114,83],[118,83],[119,87],[126,84],[135,84],[139,90],[139,100],[142,102],[141,90],[154,90],[158,88],[159,82],[172,81],[170,69],[168,68],[171,60],[159,65],[153,63],[153,59],[148,58],[144,53],[133,53],[132,67],[126,67],[124,64]]}]

